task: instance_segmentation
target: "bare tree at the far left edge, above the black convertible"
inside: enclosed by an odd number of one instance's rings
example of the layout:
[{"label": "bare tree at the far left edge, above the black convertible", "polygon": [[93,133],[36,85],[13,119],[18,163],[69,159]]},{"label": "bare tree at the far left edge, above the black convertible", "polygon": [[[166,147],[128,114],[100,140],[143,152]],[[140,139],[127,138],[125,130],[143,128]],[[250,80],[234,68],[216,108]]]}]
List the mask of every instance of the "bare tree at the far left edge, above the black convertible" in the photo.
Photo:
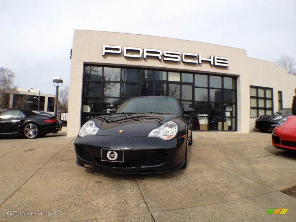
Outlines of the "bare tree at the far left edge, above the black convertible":
[{"label": "bare tree at the far left edge, above the black convertible", "polygon": [[[10,69],[0,68],[0,105],[3,112],[4,108],[9,108],[9,96],[16,92],[17,86],[14,85],[15,73]],[[7,95],[9,95],[7,97]]]}]

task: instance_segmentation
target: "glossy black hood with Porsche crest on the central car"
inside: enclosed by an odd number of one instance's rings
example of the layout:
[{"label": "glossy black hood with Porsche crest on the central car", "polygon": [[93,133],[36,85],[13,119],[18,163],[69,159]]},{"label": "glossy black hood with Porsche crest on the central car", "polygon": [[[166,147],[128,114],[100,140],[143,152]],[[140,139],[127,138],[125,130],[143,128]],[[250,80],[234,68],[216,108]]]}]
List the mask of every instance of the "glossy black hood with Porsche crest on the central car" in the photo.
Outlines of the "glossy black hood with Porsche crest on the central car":
[{"label": "glossy black hood with Porsche crest on the central car", "polygon": [[177,117],[177,114],[113,114],[94,118],[100,136],[148,136],[153,128]]}]

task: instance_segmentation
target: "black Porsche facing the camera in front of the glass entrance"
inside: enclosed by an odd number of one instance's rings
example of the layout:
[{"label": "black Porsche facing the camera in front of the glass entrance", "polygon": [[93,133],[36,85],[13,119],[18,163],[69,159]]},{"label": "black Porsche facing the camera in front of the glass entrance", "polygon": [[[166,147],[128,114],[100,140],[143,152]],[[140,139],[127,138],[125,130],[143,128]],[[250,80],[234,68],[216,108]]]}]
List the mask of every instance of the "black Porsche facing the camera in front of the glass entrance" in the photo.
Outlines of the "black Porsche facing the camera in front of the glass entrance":
[{"label": "black Porsche facing the camera in front of the glass entrance", "polygon": [[86,122],[75,140],[76,164],[110,173],[160,173],[187,164],[191,108],[172,97],[127,99],[111,115]]}]

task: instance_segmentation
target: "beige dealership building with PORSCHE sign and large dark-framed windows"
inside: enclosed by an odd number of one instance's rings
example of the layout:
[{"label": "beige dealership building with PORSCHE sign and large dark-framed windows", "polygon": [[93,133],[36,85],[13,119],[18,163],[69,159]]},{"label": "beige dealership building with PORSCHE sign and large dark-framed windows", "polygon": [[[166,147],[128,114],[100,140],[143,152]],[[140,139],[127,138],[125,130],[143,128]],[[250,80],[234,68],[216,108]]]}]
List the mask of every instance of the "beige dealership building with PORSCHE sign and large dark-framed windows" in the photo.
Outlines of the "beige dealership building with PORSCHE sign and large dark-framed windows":
[{"label": "beige dealership building with PORSCHE sign and large dark-framed windows", "polygon": [[173,38],[75,30],[67,136],[134,96],[172,96],[194,131],[248,133],[260,115],[291,107],[296,76],[245,49]]}]

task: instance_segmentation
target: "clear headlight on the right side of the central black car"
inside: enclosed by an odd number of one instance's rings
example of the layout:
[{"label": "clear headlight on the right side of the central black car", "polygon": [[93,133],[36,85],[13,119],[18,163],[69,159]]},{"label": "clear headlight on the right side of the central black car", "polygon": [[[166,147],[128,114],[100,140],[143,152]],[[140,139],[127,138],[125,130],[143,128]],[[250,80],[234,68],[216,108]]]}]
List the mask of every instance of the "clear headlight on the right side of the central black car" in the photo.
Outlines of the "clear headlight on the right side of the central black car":
[{"label": "clear headlight on the right side of the central black car", "polygon": [[160,137],[165,140],[173,139],[178,133],[178,125],[173,121],[169,121],[160,127],[153,129],[148,136]]}]

